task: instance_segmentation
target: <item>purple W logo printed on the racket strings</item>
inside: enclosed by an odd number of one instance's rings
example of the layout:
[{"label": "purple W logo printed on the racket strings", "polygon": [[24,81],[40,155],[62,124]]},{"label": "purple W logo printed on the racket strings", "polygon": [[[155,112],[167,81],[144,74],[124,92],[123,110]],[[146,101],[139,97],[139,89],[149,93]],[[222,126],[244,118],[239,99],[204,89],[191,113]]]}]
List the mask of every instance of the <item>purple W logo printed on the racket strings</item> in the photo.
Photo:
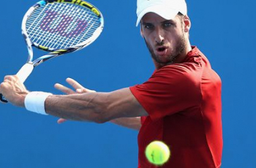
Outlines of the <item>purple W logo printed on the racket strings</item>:
[{"label": "purple W logo printed on the racket strings", "polygon": [[66,38],[78,36],[88,26],[88,22],[82,19],[74,20],[68,15],[59,15],[56,11],[46,11],[46,16],[42,19],[40,28],[46,32],[59,34]]}]

